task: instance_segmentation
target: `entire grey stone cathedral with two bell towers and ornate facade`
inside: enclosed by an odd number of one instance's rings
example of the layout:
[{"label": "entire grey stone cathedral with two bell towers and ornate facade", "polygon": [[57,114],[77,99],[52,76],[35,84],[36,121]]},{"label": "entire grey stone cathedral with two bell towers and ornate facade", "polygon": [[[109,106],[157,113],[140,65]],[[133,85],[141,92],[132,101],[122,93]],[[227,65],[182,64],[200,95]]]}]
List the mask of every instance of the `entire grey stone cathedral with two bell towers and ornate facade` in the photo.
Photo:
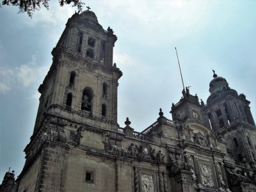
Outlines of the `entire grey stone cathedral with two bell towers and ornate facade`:
[{"label": "entire grey stone cathedral with two bell towers and ornate facade", "polygon": [[[68,19],[38,88],[35,128],[15,190],[255,192],[256,126],[246,96],[213,71],[206,103],[184,88],[172,120],[159,109],[142,132],[129,118],[120,127],[116,40],[89,9]],[[8,178],[1,191],[13,185]]]}]

